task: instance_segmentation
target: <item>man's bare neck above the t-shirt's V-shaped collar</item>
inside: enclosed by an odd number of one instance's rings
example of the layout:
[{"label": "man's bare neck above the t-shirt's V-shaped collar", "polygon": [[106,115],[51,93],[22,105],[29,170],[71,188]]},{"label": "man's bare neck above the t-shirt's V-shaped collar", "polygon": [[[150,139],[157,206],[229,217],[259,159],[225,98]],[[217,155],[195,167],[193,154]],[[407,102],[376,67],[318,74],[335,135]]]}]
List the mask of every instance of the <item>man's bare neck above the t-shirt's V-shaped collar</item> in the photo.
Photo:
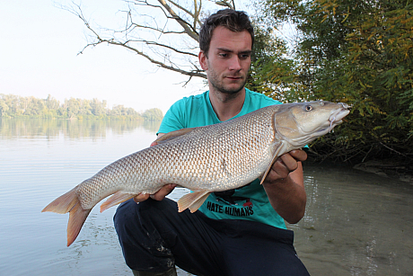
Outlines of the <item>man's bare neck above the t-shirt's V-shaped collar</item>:
[{"label": "man's bare neck above the t-shirt's V-shaped collar", "polygon": [[242,111],[245,101],[245,88],[238,93],[222,93],[209,90],[209,100],[219,120],[230,120]]}]

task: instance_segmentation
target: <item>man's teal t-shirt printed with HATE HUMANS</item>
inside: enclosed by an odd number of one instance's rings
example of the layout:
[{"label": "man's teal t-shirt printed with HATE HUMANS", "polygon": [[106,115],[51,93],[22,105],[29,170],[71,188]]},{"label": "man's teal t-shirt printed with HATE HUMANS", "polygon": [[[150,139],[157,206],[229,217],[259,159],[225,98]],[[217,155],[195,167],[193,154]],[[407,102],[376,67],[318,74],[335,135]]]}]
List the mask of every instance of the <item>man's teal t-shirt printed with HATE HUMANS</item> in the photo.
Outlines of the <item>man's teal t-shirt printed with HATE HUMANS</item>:
[{"label": "man's teal t-shirt printed with HATE HUMANS", "polygon": [[[281,103],[264,94],[245,90],[242,111],[233,118],[268,105]],[[209,101],[209,91],[206,91],[175,102],[163,117],[158,133],[202,127],[219,122],[221,120],[216,116]],[[230,196],[217,196],[215,193],[211,193],[199,210],[208,218],[248,219],[286,229],[284,219],[272,208],[267,193],[259,184],[258,179],[242,188],[235,189]]]}]

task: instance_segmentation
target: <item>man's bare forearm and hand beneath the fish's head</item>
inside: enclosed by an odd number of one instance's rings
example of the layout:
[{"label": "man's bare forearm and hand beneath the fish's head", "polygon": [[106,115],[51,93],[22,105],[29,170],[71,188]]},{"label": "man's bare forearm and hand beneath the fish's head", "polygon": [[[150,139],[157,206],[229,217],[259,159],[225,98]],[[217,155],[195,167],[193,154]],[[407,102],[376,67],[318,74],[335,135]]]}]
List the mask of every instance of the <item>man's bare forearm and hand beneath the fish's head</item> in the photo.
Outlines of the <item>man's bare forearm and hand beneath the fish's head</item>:
[{"label": "man's bare forearm and hand beneath the fish's head", "polygon": [[307,154],[302,149],[280,156],[262,183],[271,206],[291,224],[300,221],[305,212],[307,196],[301,163],[305,159]]}]

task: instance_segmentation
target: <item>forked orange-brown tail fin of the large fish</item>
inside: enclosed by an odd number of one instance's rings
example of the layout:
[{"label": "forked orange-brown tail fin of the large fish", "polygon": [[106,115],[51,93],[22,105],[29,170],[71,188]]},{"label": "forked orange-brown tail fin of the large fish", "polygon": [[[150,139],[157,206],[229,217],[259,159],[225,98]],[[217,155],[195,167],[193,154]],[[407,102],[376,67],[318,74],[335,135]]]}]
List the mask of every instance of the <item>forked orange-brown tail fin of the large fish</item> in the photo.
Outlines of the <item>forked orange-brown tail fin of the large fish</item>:
[{"label": "forked orange-brown tail fin of the large fish", "polygon": [[69,212],[67,223],[67,246],[72,245],[82,229],[83,223],[92,209],[83,209],[76,195],[77,186],[71,191],[53,200],[42,209],[42,212],[55,212],[65,214]]}]

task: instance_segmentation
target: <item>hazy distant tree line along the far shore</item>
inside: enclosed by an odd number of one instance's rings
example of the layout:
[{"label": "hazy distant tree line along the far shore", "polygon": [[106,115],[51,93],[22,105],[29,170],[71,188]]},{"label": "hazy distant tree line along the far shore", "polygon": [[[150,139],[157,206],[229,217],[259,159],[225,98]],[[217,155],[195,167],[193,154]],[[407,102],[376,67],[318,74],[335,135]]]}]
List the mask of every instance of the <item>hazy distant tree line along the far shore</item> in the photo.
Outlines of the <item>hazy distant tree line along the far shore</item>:
[{"label": "hazy distant tree line along the far shore", "polygon": [[65,99],[60,103],[50,94],[46,99],[0,93],[0,117],[44,119],[162,120],[163,112],[154,108],[139,113],[123,105],[110,110],[105,100]]}]

